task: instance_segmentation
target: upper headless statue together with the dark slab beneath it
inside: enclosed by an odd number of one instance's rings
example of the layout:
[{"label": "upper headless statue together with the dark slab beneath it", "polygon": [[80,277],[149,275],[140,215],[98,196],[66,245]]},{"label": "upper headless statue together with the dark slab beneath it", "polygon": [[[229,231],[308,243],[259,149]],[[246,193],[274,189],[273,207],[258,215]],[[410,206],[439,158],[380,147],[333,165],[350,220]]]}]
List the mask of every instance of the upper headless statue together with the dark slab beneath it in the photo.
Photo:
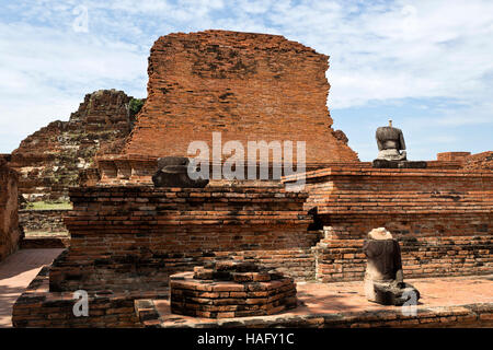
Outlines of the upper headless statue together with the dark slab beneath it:
[{"label": "upper headless statue together with the dark slab beneath it", "polygon": [[383,168],[424,168],[426,162],[408,162],[404,135],[401,129],[392,127],[392,120],[389,120],[388,127],[377,128],[375,133],[378,145],[378,156],[374,161],[374,167]]}]

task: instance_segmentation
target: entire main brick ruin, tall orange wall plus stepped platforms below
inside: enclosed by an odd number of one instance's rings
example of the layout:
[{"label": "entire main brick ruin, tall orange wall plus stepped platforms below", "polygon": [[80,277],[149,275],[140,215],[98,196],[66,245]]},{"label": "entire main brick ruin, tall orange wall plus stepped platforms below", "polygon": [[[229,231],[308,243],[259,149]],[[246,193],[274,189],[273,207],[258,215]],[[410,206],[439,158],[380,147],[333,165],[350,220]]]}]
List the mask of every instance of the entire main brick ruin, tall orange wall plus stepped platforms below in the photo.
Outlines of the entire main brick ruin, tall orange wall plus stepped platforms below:
[{"label": "entire main brick ruin, tall orange wall plus stepped platforms below", "polygon": [[[13,325],[141,327],[146,313],[136,308],[169,299],[170,276],[223,258],[298,281],[362,280],[363,237],[378,226],[400,241],[406,278],[492,273],[493,173],[467,170],[475,160],[468,154],[439,155],[425,170],[358,162],[331,129],[326,59],[272,35],[159,38],[149,95],[126,145],[98,156],[99,171],[70,188],[71,245],[16,301]],[[222,142],[307,140],[306,187],[285,189],[296,176],[203,189],[151,185],[158,156],[186,156],[188,142],[208,142],[211,131]],[[480,159],[472,163],[488,164]],[[72,314],[80,289],[89,317]]]}]

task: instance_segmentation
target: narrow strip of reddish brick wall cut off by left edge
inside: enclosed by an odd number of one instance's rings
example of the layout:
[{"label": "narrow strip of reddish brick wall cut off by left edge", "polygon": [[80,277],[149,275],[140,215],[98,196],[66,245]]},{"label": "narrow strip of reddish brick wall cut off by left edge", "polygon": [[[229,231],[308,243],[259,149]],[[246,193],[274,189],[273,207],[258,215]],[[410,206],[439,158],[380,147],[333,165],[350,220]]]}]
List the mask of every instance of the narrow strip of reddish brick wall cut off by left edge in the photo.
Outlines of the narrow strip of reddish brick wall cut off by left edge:
[{"label": "narrow strip of reddish brick wall cut off by left edge", "polygon": [[18,217],[18,174],[0,154],[0,261],[15,252],[22,237]]}]

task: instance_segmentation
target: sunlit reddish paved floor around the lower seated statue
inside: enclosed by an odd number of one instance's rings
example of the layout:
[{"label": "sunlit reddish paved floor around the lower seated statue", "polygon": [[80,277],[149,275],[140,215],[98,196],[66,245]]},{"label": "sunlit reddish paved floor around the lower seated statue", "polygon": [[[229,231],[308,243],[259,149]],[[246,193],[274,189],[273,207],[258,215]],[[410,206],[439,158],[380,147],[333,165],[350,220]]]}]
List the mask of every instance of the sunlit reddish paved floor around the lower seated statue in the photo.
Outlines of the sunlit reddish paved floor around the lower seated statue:
[{"label": "sunlit reddish paved floor around the lower seated statue", "polygon": [[[493,303],[493,275],[467,276],[447,278],[406,279],[421,293],[420,308],[448,308],[460,310],[461,305]],[[273,316],[263,316],[265,319],[285,317],[286,319],[307,315],[364,314],[367,312],[394,312],[400,313],[399,306],[382,306],[366,300],[363,282],[313,283],[298,282],[298,300],[301,304],[290,311]],[[198,324],[221,325],[221,320],[208,318],[195,318],[170,313],[168,300],[152,301],[159,313],[161,326],[191,326]],[[229,318],[228,320],[231,320]],[[234,318],[240,319],[240,318]],[[249,318],[244,318],[249,319]],[[253,317],[252,317],[253,319]],[[486,327],[491,327],[491,322]]]}]

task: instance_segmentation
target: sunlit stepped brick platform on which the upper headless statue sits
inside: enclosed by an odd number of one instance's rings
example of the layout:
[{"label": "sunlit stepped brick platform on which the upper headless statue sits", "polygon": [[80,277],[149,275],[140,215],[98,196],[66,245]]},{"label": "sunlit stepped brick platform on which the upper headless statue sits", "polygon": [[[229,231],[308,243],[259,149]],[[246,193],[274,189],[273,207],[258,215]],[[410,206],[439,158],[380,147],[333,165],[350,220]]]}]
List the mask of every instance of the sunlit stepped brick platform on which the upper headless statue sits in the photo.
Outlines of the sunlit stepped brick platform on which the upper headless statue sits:
[{"label": "sunlit stepped brick platform on which the upper headless statue sits", "polygon": [[400,242],[406,277],[493,271],[491,172],[348,165],[307,173],[305,189],[324,231],[313,248],[320,281],[363,279],[363,240],[380,226]]}]

